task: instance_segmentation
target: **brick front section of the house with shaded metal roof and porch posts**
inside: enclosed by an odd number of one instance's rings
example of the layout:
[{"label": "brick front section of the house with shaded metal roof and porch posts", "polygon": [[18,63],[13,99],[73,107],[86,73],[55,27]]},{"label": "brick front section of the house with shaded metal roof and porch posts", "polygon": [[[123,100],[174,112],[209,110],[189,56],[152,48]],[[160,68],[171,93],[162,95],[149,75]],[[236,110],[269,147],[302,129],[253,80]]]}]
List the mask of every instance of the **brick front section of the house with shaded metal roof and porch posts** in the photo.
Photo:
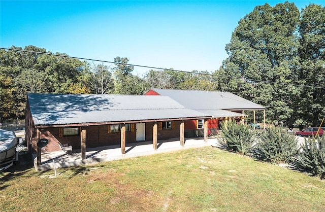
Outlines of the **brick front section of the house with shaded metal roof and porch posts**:
[{"label": "brick front section of the house with shaded metal roof and porch posts", "polygon": [[[27,94],[26,141],[29,151],[37,152],[38,165],[42,152],[64,147],[121,145],[158,139],[180,138],[184,145],[184,122],[200,121],[207,141],[208,120],[212,115],[185,108],[168,96],[97,95],[97,94]],[[37,146],[46,138],[45,147]],[[43,139],[44,140],[44,139]]]}]

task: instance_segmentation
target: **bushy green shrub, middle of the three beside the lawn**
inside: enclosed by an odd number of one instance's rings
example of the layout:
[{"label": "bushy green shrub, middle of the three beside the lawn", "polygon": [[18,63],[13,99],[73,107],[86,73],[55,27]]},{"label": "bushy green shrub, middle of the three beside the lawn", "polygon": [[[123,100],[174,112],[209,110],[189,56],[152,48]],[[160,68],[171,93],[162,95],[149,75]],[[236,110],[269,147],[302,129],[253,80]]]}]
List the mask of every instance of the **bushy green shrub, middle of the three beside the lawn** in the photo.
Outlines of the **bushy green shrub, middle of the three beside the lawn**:
[{"label": "bushy green shrub, middle of the three beside the lawn", "polygon": [[298,154],[296,136],[282,127],[262,131],[255,148],[258,159],[277,164],[292,161]]}]

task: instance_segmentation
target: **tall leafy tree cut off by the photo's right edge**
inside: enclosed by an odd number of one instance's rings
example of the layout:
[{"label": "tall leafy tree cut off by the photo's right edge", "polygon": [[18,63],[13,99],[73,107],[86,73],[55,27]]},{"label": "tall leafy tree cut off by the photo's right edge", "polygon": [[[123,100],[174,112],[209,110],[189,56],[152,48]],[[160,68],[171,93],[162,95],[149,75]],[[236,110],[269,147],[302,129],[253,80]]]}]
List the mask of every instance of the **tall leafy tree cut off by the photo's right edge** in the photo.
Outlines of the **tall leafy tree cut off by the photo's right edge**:
[{"label": "tall leafy tree cut off by the photo's right edge", "polygon": [[[325,87],[325,7],[310,4],[301,12],[298,84]],[[318,126],[325,115],[325,89],[305,87],[294,104],[296,125]]]}]

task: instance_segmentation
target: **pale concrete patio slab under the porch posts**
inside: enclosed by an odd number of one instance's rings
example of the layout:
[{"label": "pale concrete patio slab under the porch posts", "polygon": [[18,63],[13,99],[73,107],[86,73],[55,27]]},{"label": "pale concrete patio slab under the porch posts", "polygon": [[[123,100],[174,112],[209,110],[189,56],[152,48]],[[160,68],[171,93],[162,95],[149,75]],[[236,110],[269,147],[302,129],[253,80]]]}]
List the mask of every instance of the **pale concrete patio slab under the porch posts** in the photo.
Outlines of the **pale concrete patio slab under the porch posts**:
[{"label": "pale concrete patio slab under the porch posts", "polygon": [[[66,168],[71,166],[80,166],[95,164],[104,161],[132,158],[142,155],[152,155],[157,153],[172,152],[188,148],[198,148],[212,146],[217,143],[216,138],[209,138],[205,143],[203,138],[187,138],[184,146],[180,145],[180,140],[158,140],[157,150],[153,149],[151,142],[129,143],[125,146],[125,154],[121,153],[120,145],[104,146],[98,148],[86,148],[86,159],[81,159],[81,150],[73,150],[68,153],[63,151],[43,153],[41,155],[41,165],[37,165],[36,154],[33,154],[34,167],[37,171],[45,171],[56,168]],[[53,162],[54,161],[54,162]]]}]

